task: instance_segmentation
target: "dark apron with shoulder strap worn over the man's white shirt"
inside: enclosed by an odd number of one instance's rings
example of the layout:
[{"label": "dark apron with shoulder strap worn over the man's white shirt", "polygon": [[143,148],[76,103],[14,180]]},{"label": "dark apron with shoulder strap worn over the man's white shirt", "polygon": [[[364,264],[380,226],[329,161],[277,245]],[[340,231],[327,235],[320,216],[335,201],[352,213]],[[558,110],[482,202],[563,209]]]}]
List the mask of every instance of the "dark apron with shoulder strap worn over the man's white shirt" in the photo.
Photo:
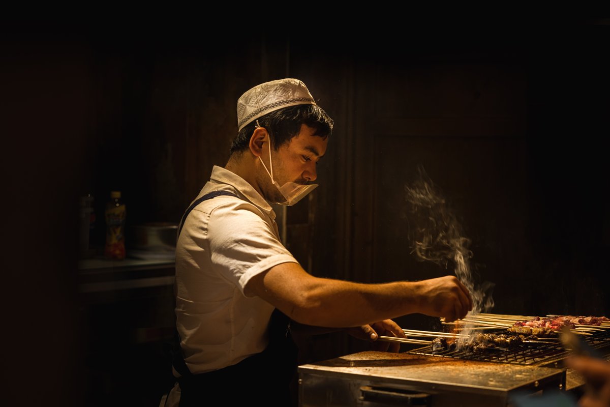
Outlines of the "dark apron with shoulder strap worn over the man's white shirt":
[{"label": "dark apron with shoulder strap worn over the man's white shirt", "polygon": [[[182,231],[185,219],[195,206],[220,195],[239,198],[227,191],[214,191],[201,196],[182,215],[178,235]],[[214,327],[210,326],[209,329],[213,330]],[[290,334],[290,319],[278,309],[271,314],[268,335],[269,344],[261,353],[223,369],[193,375],[184,362],[180,337],[176,330],[172,364],[181,374],[178,378],[181,389],[180,407],[237,405],[237,403],[248,403],[247,405],[262,403],[265,406],[282,407],[292,405],[290,381],[296,375],[298,348]]]}]

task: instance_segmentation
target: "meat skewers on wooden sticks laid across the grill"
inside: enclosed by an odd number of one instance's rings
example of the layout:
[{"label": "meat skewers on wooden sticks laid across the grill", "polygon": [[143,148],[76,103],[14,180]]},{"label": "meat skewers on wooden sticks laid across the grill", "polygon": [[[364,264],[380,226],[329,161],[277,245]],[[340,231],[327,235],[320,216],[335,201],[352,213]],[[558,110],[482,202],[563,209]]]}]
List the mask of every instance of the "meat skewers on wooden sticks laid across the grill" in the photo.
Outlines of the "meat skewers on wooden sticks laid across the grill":
[{"label": "meat skewers on wooden sticks laid across the grill", "polygon": [[[610,320],[605,317],[561,315],[547,315],[547,317],[540,318],[526,315],[476,314],[455,322],[445,322],[444,319],[441,319],[441,322],[448,326],[451,332],[404,329],[407,338],[380,336],[379,340],[431,345],[432,350],[435,351],[466,348],[478,352],[488,349],[508,350],[527,343],[556,344],[555,341],[559,340],[559,330],[564,326],[582,336],[590,336],[595,331],[610,329]],[[496,332],[484,333],[484,330]],[[498,332],[498,330],[501,331]]]}]

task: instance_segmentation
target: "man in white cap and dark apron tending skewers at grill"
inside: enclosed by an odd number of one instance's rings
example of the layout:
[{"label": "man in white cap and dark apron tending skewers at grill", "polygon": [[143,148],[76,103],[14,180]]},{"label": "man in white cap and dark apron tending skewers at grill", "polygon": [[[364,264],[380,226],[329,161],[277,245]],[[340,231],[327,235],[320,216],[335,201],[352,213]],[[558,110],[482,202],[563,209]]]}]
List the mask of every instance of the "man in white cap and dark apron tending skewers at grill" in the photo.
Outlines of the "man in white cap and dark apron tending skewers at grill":
[{"label": "man in white cap and dark apron tending skewers at grill", "polygon": [[227,164],[213,167],[179,232],[170,398],[179,393],[180,406],[205,405],[220,390],[229,405],[290,405],[295,330],[346,329],[375,341],[404,337],[392,318],[453,321],[472,308],[454,276],[360,284],[303,270],[280,241],[270,204],[295,204],[315,188],[333,121],[303,82],[288,78],[245,92],[237,122]]}]

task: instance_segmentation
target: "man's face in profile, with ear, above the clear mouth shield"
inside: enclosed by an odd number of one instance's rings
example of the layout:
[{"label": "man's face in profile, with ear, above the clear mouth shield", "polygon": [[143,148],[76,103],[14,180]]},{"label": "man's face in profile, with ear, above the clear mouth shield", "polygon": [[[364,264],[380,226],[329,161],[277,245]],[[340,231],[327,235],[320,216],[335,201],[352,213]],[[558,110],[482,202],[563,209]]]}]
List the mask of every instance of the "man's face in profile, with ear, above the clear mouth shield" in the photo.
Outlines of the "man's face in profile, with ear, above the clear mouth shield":
[{"label": "man's face in profile, with ear, above the clear mouth shield", "polygon": [[[315,181],[317,176],[316,164],[326,153],[328,137],[313,135],[315,129],[301,124],[301,131],[298,135],[290,139],[288,143],[280,146],[277,150],[271,148],[271,159],[273,159],[273,179],[278,184],[284,185],[286,182],[296,182],[296,184],[308,184]],[[269,167],[268,146],[262,151],[262,160]],[[262,171],[266,182],[262,188],[264,196],[272,202],[284,200],[278,189],[271,183],[271,179],[265,170]]]}]

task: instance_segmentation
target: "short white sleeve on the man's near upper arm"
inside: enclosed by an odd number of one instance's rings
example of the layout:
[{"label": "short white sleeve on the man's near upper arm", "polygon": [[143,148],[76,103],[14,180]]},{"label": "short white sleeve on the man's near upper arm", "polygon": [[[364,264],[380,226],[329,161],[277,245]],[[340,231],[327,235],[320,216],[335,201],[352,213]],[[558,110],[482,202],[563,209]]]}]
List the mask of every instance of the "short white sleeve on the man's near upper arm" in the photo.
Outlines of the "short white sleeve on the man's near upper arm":
[{"label": "short white sleeve on the man's near upper arm", "polygon": [[210,213],[207,237],[213,270],[242,294],[253,276],[278,264],[297,262],[279,241],[272,221],[261,215],[256,206],[243,201],[218,206]]}]

